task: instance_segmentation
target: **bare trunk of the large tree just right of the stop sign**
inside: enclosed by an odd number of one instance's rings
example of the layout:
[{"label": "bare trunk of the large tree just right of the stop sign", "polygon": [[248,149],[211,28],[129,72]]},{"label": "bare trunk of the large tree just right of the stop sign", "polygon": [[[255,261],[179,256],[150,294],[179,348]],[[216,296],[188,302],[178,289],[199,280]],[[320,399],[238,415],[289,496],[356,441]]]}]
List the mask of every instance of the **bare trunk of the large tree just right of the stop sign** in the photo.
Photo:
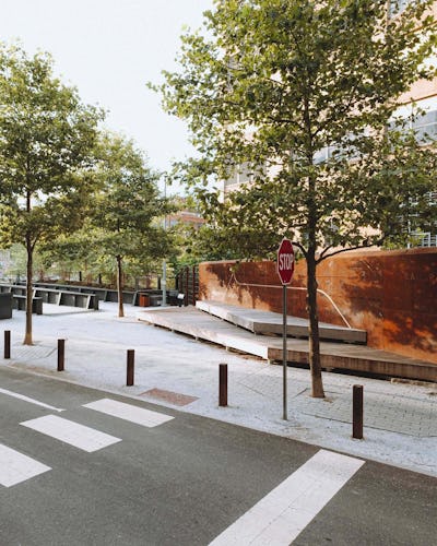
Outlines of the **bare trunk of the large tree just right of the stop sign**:
[{"label": "bare trunk of the large tree just right of the stop sign", "polygon": [[316,252],[307,256],[307,310],[309,317],[309,367],[311,370],[311,396],[324,399],[320,366],[319,313],[317,308]]}]

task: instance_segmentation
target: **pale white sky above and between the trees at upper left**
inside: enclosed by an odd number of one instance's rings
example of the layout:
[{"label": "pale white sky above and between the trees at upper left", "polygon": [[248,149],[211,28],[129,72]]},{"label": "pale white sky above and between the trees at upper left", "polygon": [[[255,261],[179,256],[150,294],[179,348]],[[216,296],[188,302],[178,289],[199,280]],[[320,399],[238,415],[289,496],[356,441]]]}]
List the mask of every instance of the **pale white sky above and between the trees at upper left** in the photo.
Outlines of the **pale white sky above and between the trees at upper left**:
[{"label": "pale white sky above and between the trees at upper left", "polygon": [[176,70],[184,27],[213,0],[1,0],[0,39],[48,51],[84,103],[109,110],[106,127],[135,141],[157,170],[192,153],[186,123],[161,108],[146,82]]}]

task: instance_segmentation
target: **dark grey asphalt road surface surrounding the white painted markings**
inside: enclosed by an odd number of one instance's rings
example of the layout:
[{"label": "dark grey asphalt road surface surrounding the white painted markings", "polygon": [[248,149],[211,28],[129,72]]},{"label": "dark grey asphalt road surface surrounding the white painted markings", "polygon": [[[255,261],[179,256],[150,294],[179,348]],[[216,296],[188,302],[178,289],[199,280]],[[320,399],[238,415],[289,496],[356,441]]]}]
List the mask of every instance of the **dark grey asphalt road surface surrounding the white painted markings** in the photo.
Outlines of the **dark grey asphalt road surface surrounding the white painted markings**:
[{"label": "dark grey asphalt road surface surrounding the white painted markings", "polygon": [[[0,485],[1,546],[206,545],[320,452],[8,368],[0,369],[0,446],[49,467]],[[149,428],[84,407],[103,399],[174,418]],[[90,441],[104,432],[114,443],[87,452],[21,425],[54,415],[91,427]],[[3,458],[0,483],[8,479],[9,464]],[[293,544],[430,546],[436,515],[437,479],[366,461]],[[281,531],[286,530],[283,524]],[[244,546],[239,539],[235,544]]]}]

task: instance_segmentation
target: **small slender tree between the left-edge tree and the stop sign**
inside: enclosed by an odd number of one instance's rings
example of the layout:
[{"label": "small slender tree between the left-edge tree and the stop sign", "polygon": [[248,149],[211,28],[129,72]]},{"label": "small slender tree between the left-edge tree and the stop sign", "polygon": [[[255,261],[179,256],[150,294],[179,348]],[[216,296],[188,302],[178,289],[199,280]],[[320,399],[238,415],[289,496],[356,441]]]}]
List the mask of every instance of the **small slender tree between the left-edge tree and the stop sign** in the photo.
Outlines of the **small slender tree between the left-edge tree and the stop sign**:
[{"label": "small slender tree between the left-edge tree and the stop sign", "polygon": [[156,260],[170,251],[169,234],[158,218],[172,207],[160,197],[160,175],[132,141],[106,134],[99,150],[88,240],[101,260],[109,257],[117,265],[118,316],[123,317],[123,263]]}]

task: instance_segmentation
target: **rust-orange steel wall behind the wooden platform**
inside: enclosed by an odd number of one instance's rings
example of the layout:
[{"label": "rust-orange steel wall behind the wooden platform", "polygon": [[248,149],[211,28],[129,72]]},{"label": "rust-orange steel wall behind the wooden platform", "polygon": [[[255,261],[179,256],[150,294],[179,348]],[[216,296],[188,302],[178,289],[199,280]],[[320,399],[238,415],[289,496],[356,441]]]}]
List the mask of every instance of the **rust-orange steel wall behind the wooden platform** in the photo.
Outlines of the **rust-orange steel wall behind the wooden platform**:
[{"label": "rust-orange steel wall behind the wooden platform", "polygon": [[[199,298],[282,312],[274,262],[204,262]],[[368,345],[437,364],[437,250],[354,251],[318,266],[319,318],[367,331]],[[307,317],[306,263],[296,264],[288,312]]]}]

